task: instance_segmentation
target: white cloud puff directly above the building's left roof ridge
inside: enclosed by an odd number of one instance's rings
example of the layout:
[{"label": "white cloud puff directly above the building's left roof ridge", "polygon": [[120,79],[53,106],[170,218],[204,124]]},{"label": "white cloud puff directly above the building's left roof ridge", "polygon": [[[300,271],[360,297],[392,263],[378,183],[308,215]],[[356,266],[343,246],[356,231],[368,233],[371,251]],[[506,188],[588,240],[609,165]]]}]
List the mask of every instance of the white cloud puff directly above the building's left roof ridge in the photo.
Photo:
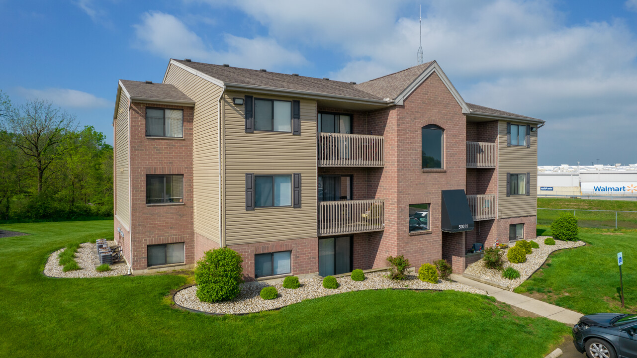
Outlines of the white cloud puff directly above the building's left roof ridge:
[{"label": "white cloud puff directly above the building's left roof ridge", "polygon": [[162,57],[266,69],[307,64],[300,52],[283,48],[273,38],[250,39],[225,34],[227,50],[217,50],[204,43],[181,20],[159,11],[145,13],[141,23],[134,27],[138,47]]}]

